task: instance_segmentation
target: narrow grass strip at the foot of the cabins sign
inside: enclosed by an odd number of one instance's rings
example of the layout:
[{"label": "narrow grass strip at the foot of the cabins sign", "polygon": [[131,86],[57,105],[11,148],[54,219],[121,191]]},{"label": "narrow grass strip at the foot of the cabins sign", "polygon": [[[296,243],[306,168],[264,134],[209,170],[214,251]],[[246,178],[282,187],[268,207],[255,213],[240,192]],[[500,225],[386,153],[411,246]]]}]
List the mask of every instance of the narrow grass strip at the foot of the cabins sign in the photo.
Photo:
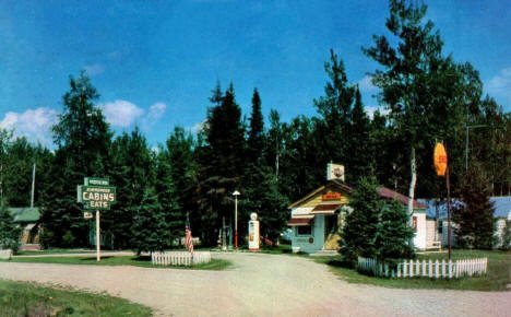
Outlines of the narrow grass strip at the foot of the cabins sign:
[{"label": "narrow grass strip at the foot of the cabins sign", "polygon": [[86,265],[86,266],[135,266],[144,268],[162,268],[162,269],[190,269],[190,270],[224,270],[230,267],[231,262],[223,259],[211,259],[211,262],[197,265],[193,267],[164,267],[153,266],[148,256],[126,256],[126,257],[102,257],[102,260],[96,261],[96,256],[80,256],[80,257],[26,257],[12,258],[12,262],[33,262],[33,263],[58,263],[58,265]]}]

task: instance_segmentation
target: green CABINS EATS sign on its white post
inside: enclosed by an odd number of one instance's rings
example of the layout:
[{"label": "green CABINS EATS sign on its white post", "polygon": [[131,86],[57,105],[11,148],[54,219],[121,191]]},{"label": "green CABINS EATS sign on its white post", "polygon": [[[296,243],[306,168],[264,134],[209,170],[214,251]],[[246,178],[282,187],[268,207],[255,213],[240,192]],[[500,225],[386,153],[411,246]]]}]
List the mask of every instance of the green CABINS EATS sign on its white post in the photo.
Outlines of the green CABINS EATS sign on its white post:
[{"label": "green CABINS EATS sign on its white post", "polygon": [[[96,259],[102,260],[100,248],[100,212],[99,210],[109,210],[111,203],[117,201],[116,187],[109,186],[107,178],[85,177],[84,185],[79,185],[76,188],[78,202],[83,202],[85,208],[96,210]],[[85,219],[91,219],[92,213],[85,212]]]}]

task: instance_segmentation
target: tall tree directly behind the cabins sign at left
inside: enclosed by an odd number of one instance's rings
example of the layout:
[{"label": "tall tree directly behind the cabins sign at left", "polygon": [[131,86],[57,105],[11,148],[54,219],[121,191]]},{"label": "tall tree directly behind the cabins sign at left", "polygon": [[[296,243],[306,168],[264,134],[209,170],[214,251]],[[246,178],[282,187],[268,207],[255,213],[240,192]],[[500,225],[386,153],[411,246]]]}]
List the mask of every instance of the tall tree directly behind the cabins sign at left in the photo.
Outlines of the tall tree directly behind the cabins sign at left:
[{"label": "tall tree directly behind the cabins sign at left", "polygon": [[63,110],[52,127],[57,144],[51,169],[51,190],[43,206],[43,243],[51,246],[87,246],[90,225],[83,220],[83,207],[76,202],[76,185],[86,176],[106,175],[111,132],[99,97],[84,72],[70,77],[70,90],[63,95]]}]

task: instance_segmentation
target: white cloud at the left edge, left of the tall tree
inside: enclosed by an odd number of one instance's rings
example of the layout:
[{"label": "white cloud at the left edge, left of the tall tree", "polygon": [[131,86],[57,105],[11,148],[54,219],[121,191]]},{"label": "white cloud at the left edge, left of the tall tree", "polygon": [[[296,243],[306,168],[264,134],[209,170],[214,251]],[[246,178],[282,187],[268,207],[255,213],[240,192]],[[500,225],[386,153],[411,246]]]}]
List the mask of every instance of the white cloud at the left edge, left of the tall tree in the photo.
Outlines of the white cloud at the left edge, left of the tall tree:
[{"label": "white cloud at the left edge, left of the tall tree", "polygon": [[14,129],[14,138],[26,137],[28,141],[49,146],[51,144],[51,126],[58,121],[57,111],[39,107],[23,114],[7,113],[0,121],[1,129]]}]

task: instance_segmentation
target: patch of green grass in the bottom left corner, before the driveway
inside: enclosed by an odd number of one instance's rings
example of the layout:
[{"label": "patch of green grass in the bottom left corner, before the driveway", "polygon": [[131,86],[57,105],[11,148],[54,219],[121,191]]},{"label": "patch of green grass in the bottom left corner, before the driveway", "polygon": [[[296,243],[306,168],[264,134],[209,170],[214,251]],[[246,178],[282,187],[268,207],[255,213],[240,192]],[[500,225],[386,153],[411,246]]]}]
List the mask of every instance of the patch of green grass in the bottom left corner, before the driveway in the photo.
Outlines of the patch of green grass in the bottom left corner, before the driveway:
[{"label": "patch of green grass in the bottom left corner, before the driveway", "polygon": [[127,300],[35,283],[0,280],[2,316],[152,316],[151,308]]}]

